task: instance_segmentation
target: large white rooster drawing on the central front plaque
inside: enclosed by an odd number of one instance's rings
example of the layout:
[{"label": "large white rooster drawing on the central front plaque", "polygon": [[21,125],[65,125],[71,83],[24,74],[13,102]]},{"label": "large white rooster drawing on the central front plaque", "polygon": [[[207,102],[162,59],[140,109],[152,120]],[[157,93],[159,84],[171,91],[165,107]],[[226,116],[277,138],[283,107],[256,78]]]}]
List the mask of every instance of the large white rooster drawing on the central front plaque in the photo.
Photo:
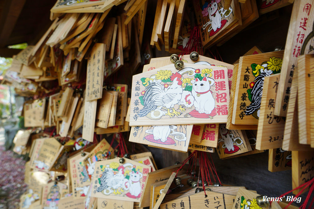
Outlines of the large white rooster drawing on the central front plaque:
[{"label": "large white rooster drawing on the central front plaque", "polygon": [[[143,96],[144,107],[139,111],[139,117],[146,116],[149,112],[155,110],[157,107],[167,108],[167,113],[171,118],[179,116],[181,112],[176,111],[173,107],[181,100],[183,89],[182,76],[178,72],[172,73],[170,80],[173,81],[171,86],[165,89],[160,83],[151,83],[145,88]],[[172,112],[170,112],[172,109]],[[185,109],[179,106],[179,109],[184,112]]]}]

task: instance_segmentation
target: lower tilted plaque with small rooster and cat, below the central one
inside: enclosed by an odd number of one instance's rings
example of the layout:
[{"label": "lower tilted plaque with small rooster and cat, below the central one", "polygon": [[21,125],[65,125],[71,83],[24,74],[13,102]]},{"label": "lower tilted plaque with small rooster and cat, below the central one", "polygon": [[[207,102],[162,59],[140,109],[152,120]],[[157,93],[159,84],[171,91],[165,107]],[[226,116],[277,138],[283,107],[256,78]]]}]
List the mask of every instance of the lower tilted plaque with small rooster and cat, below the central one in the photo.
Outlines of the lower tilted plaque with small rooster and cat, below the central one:
[{"label": "lower tilted plaque with small rooster and cat, below the central one", "polygon": [[[140,202],[151,168],[123,159],[124,163],[120,163],[118,158],[96,162],[92,197]],[[112,184],[113,181],[117,183]]]}]

